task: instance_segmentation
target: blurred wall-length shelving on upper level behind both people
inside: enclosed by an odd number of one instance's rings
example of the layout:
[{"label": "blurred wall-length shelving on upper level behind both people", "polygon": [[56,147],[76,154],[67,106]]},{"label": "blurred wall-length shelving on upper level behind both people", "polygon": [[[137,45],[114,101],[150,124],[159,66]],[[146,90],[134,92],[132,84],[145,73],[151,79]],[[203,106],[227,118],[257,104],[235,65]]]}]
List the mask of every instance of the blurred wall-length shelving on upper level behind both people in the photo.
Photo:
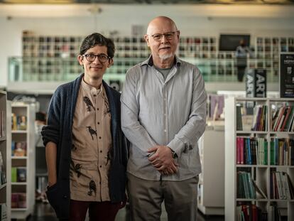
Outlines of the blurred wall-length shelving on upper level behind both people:
[{"label": "blurred wall-length shelving on upper level behind both people", "polygon": [[[150,50],[141,36],[109,36],[116,45],[114,65],[104,80],[120,90],[126,71],[148,58]],[[82,68],[77,62],[85,36],[38,35],[23,31],[22,57],[9,58],[9,82],[65,82]],[[294,37],[256,37],[248,68],[264,68],[268,82],[278,80],[278,54],[294,50]],[[206,82],[236,82],[235,51],[219,51],[218,36],[180,36],[177,55],[200,68]],[[13,87],[12,85],[9,87]],[[16,90],[16,89],[15,89]]]}]

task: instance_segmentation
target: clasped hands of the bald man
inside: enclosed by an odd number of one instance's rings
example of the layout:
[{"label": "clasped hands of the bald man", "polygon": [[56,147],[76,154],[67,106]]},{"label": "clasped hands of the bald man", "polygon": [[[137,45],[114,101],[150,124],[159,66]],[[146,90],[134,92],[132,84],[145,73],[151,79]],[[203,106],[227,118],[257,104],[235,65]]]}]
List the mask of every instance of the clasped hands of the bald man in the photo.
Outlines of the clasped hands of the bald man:
[{"label": "clasped hands of the bald man", "polygon": [[153,146],[148,149],[148,153],[153,153],[148,160],[161,174],[171,175],[178,172],[178,163],[175,163],[173,153],[168,146]]}]

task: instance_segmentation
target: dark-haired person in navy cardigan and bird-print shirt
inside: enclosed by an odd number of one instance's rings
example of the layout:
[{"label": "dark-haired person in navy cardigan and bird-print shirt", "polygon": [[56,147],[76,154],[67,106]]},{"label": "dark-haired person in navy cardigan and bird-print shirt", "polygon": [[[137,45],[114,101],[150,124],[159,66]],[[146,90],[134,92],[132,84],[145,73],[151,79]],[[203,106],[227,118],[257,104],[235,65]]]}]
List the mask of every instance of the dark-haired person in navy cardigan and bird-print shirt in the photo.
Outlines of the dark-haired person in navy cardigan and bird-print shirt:
[{"label": "dark-haired person in navy cardigan and bird-print shirt", "polygon": [[87,36],[77,60],[84,73],[55,91],[43,127],[47,197],[60,220],[114,221],[126,201],[127,143],[121,131],[120,94],[102,77],[114,43]]}]

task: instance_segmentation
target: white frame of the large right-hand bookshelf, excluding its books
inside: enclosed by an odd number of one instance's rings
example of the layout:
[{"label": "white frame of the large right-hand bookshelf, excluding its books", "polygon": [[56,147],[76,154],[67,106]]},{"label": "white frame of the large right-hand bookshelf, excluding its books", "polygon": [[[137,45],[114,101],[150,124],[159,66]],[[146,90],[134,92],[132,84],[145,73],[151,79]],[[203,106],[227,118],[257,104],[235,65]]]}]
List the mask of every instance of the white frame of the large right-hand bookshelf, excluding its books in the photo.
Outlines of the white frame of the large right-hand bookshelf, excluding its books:
[{"label": "white frame of the large right-hand bookshelf, excluding its books", "polygon": [[[267,127],[265,131],[236,131],[236,104],[245,104],[245,102],[256,102],[256,104],[266,105]],[[271,118],[272,108],[276,105],[294,106],[294,99],[271,99],[271,98],[236,98],[229,97],[225,100],[225,220],[237,220],[237,205],[251,203],[261,208],[263,212],[268,212],[268,220],[273,221],[271,217],[270,206],[276,204],[283,217],[287,220],[294,220],[294,200],[278,200],[271,196],[271,171],[288,173],[291,183],[294,181],[294,166],[276,166],[271,165],[270,143],[273,138],[294,139],[292,132],[272,131]],[[236,164],[236,138],[237,136],[263,138],[267,141],[267,163],[266,165],[247,165]],[[245,162],[244,162],[245,163]],[[249,170],[252,180],[256,182],[258,188],[261,188],[266,194],[266,198],[237,198],[237,171]]]}]

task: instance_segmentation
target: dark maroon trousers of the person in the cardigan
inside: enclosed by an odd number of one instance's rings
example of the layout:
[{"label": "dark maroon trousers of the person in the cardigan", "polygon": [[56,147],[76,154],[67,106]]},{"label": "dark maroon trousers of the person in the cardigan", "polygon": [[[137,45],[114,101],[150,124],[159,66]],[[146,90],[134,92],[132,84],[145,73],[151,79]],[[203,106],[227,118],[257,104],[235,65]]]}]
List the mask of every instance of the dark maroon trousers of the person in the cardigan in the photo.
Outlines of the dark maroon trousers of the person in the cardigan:
[{"label": "dark maroon trousers of the person in the cardigan", "polygon": [[89,221],[114,221],[116,213],[124,207],[121,203],[85,202],[70,200],[70,221],[85,221],[89,208]]}]

